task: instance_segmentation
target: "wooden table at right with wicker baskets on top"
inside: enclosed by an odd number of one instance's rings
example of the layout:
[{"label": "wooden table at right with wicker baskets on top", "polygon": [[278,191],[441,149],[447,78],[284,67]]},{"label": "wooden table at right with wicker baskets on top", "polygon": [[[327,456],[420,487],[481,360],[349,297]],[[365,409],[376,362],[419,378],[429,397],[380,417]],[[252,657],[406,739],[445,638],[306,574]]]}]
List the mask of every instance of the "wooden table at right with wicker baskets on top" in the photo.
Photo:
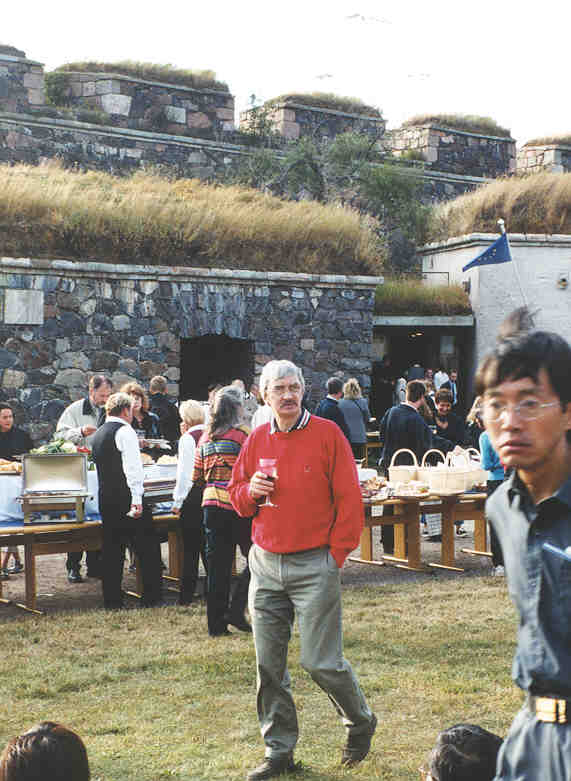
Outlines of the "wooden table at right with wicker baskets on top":
[{"label": "wooden table at right with wicker baskets on top", "polygon": [[[442,514],[442,549],[440,562],[429,562],[429,567],[463,572],[455,566],[454,524],[456,521],[474,520],[474,551],[487,555],[485,493],[468,493],[456,496],[427,496],[422,499],[369,499],[364,501],[365,528],[361,534],[361,556],[349,557],[360,564],[385,562],[404,569],[427,571],[420,555],[420,514],[438,512]],[[422,502],[422,506],[421,506]],[[436,503],[438,502],[438,503]],[[393,507],[394,515],[380,515],[376,508]],[[373,527],[394,524],[394,556],[383,556],[381,561],[373,559]]]}]

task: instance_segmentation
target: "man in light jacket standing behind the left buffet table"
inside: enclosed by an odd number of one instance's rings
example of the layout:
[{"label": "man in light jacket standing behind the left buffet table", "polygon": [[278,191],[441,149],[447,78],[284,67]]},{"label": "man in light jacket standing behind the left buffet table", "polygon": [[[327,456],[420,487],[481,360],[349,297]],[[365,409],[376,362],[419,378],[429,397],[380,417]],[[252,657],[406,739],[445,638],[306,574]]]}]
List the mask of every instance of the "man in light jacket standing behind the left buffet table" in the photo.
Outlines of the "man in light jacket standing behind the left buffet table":
[{"label": "man in light jacket standing behind the left buffet table", "polygon": [[[57,422],[55,436],[80,447],[91,447],[91,440],[105,420],[105,402],[111,394],[113,383],[103,374],[94,374],[89,380],[89,393],[84,399],[72,402],[62,412]],[[70,583],[82,583],[81,557],[83,551],[67,554],[67,579]],[[87,551],[87,577],[101,575],[99,551]]]}]

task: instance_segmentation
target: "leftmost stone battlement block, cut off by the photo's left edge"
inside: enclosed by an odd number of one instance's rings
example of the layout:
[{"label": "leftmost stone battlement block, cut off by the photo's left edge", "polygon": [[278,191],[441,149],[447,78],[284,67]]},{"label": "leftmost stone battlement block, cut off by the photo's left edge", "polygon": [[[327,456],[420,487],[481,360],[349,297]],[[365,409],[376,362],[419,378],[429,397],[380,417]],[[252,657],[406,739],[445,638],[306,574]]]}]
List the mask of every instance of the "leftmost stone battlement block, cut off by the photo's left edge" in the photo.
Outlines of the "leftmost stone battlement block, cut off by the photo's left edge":
[{"label": "leftmost stone battlement block, cut off by the photo's left edge", "polygon": [[44,100],[44,66],[18,49],[0,46],[0,111],[26,113]]}]

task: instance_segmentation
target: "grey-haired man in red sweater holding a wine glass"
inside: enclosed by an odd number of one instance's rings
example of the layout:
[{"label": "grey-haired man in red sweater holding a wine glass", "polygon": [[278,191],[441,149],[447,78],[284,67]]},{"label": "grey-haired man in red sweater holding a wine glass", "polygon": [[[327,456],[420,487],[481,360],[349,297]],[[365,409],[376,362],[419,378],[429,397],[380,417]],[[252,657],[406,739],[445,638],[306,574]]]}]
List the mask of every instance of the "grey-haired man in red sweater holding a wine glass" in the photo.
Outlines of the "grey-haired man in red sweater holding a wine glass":
[{"label": "grey-haired man in red sweater holding a wine glass", "polygon": [[[238,514],[253,516],[249,612],[266,758],[248,781],[297,769],[298,724],[287,671],[294,613],[301,665],[347,728],[343,764],[366,757],[377,725],[342,651],[340,569],[363,528],[355,461],[335,423],[302,409],[304,389],[303,375],[290,361],[266,364],[260,390],[273,418],[250,434],[228,485]],[[260,458],[276,459],[275,482],[260,469]]]}]

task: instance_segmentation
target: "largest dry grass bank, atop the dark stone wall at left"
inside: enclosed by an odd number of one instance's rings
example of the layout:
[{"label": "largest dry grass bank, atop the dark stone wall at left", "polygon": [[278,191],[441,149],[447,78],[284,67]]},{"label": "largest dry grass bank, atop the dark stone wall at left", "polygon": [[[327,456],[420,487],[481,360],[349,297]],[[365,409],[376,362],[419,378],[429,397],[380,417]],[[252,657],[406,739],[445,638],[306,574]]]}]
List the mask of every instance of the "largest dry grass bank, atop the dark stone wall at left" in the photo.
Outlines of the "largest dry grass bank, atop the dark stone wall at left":
[{"label": "largest dry grass bank, atop the dark stone wall at left", "polygon": [[348,208],[241,187],[0,166],[0,251],[115,263],[377,274],[383,245]]}]

